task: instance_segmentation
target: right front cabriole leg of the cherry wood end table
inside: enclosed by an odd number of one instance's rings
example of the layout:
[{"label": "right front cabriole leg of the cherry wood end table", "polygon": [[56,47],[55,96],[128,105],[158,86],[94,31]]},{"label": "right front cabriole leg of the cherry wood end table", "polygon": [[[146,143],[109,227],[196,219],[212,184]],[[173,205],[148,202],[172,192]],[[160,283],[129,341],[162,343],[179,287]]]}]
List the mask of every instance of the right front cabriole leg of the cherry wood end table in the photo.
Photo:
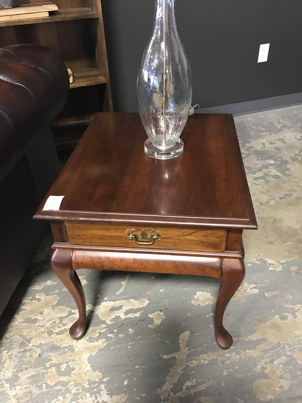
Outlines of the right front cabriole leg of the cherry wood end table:
[{"label": "right front cabriole leg of the cherry wood end table", "polygon": [[223,327],[222,320],[226,306],[238,290],[245,275],[243,259],[222,259],[222,284],[216,302],[215,310],[215,336],[218,346],[221,349],[228,349],[232,346],[233,338]]}]

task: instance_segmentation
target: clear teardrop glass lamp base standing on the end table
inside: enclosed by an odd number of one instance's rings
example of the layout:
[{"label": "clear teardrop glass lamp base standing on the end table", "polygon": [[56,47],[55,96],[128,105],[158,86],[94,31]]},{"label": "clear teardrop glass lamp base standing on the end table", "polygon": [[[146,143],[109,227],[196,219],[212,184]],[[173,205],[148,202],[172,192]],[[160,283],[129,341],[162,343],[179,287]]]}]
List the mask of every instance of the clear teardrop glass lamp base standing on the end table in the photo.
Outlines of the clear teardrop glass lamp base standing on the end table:
[{"label": "clear teardrop glass lamp base standing on the end table", "polygon": [[180,40],[174,0],[156,0],[152,38],[137,78],[138,111],[148,139],[145,153],[169,159],[183,152],[181,132],[192,102],[190,64]]}]

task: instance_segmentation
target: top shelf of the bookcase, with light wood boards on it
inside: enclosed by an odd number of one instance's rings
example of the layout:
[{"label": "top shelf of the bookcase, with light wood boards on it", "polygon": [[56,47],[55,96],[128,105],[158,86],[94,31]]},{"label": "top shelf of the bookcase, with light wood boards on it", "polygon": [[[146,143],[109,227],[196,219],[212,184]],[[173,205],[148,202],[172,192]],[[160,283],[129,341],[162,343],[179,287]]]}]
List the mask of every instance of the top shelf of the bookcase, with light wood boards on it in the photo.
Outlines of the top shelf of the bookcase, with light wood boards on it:
[{"label": "top shelf of the bookcase, with light wood boards on it", "polygon": [[48,17],[27,19],[24,14],[24,19],[19,21],[2,21],[0,27],[9,27],[15,25],[41,24],[47,22],[83,20],[87,18],[98,18],[98,12],[89,8],[79,9],[59,9],[58,11],[50,12]]}]

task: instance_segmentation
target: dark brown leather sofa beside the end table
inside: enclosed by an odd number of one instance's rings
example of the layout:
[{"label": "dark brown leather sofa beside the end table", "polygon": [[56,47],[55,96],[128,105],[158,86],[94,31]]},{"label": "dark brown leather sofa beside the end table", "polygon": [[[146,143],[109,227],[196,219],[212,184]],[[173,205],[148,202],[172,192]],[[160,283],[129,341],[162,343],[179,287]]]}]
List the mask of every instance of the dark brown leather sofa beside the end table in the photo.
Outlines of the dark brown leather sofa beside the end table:
[{"label": "dark brown leather sofa beside the end table", "polygon": [[0,314],[46,228],[32,216],[59,170],[50,125],[68,89],[65,64],[50,48],[0,49]]}]

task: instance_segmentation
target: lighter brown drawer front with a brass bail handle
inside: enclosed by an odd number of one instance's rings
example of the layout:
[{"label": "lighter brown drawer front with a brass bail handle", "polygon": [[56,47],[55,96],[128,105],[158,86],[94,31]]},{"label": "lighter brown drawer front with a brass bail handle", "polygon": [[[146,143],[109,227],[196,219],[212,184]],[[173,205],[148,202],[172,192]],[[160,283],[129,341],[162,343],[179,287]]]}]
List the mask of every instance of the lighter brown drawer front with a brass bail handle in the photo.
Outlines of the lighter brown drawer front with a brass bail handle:
[{"label": "lighter brown drawer front with a brass bail handle", "polygon": [[79,222],[65,225],[69,243],[76,245],[204,252],[224,252],[225,248],[226,231],[220,229]]}]

